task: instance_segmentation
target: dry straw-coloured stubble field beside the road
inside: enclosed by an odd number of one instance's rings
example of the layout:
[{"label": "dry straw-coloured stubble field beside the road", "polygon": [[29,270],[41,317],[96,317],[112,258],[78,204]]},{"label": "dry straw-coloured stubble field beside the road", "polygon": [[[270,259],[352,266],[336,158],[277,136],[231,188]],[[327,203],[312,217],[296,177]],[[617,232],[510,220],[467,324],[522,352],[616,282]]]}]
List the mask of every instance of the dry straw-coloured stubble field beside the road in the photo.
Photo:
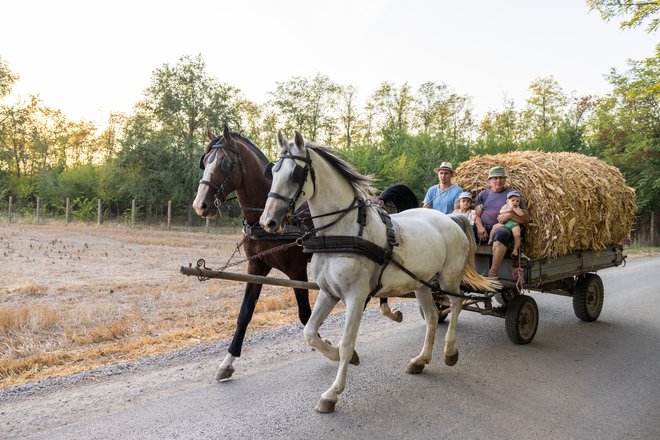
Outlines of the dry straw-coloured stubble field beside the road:
[{"label": "dry straw-coloured stubble field beside the road", "polygon": [[[0,225],[0,388],[231,337],[244,284],[179,268],[199,258],[219,268],[240,238],[238,229]],[[248,332],[297,321],[293,290],[264,286]]]}]

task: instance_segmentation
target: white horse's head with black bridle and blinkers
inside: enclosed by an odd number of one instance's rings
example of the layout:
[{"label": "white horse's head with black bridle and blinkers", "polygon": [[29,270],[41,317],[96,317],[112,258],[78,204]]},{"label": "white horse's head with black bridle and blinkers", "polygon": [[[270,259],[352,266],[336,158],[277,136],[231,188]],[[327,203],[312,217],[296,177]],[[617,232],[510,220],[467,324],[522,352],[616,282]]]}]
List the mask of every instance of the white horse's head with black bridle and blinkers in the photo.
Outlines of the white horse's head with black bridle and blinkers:
[{"label": "white horse's head with black bridle and blinkers", "polygon": [[277,132],[280,158],[267,172],[272,174],[264,212],[259,219],[268,232],[281,232],[287,218],[314,194],[314,170],[305,139],[296,131],[290,142]]}]

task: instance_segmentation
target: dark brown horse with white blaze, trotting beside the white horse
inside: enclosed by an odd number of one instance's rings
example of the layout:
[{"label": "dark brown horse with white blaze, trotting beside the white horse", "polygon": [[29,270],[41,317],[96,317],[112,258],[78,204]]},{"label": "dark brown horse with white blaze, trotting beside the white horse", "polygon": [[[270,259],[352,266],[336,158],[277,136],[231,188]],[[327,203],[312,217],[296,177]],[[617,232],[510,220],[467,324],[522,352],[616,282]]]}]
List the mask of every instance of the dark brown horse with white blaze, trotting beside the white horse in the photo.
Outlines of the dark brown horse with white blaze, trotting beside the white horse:
[{"label": "dark brown horse with white blaze, trotting beside the white horse", "polygon": [[[271,185],[271,179],[264,174],[270,161],[249,139],[230,132],[227,126],[224,127],[222,136],[216,137],[209,132],[208,137],[210,142],[200,159],[200,168],[204,170],[204,175],[199,182],[193,202],[193,208],[199,216],[214,216],[227,195],[235,192],[243,213],[244,232],[247,235],[243,241],[243,249],[248,258],[274,247],[292,243],[302,235],[301,231],[304,231],[305,227],[312,227],[309,211],[303,206],[292,219],[294,225],[287,226],[288,234],[282,236],[266,233],[259,225],[259,217],[263,212]],[[415,194],[405,185],[388,188],[381,197],[383,195],[388,197],[381,199],[382,205],[388,211],[396,212],[419,206]],[[307,281],[307,263],[310,259],[311,254],[303,253],[301,246],[292,246],[251,258],[248,261],[247,272],[266,276],[275,268],[292,280]],[[261,288],[262,285],[256,283],[247,283],[245,286],[236,330],[229,345],[229,352],[216,372],[217,381],[231,378],[234,372],[233,362],[241,355],[245,333]],[[294,289],[294,292],[298,303],[298,317],[304,325],[311,315],[309,293],[301,288]],[[387,298],[381,299],[380,312],[398,322],[403,319],[401,312],[390,310]],[[356,359],[356,363],[357,361]]]}]

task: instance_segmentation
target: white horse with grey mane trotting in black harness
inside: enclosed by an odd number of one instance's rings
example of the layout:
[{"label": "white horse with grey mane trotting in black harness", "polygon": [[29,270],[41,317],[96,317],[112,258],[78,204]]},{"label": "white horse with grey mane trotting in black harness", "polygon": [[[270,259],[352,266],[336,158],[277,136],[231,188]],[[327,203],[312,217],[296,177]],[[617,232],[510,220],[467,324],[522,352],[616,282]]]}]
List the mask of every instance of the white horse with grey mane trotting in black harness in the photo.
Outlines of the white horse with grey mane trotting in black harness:
[{"label": "white horse with grey mane trotting in black harness", "polygon": [[[406,372],[419,374],[431,361],[438,326],[438,309],[429,284],[437,276],[442,290],[457,295],[451,296],[451,319],[444,344],[445,363],[454,365],[458,361],[456,323],[462,306],[461,282],[477,291],[493,291],[498,287],[497,282],[482,277],[474,268],[476,246],[469,223],[463,222],[462,228],[458,225],[461,219],[452,219],[433,209],[417,208],[393,214],[398,244],[391,248],[392,234],[388,240],[386,223],[377,208],[366,202],[372,190],[371,177],[359,174],[327,148],[307,145],[299,132],[295,134],[295,142],[289,142],[279,132],[278,143],[282,152],[272,170],[271,192],[260,219],[264,229],[281,231],[289,212],[307,201],[316,235],[323,237],[321,240],[361,236],[378,248],[393,251],[392,261],[384,265],[350,249],[329,253],[315,250],[311,270],[320,291],[305,325],[305,339],[329,359],[339,361],[335,381],[321,396],[316,411],[334,411],[344,390],[349,361],[357,357],[355,340],[370,294],[394,297],[415,291],[424,314],[426,335],[421,353],[410,360]],[[362,210],[362,216],[366,211],[366,222],[362,222],[365,224],[358,222],[360,209],[356,205],[361,203],[366,206]],[[346,322],[340,345],[334,347],[319,337],[318,330],[339,300],[346,304]]]}]

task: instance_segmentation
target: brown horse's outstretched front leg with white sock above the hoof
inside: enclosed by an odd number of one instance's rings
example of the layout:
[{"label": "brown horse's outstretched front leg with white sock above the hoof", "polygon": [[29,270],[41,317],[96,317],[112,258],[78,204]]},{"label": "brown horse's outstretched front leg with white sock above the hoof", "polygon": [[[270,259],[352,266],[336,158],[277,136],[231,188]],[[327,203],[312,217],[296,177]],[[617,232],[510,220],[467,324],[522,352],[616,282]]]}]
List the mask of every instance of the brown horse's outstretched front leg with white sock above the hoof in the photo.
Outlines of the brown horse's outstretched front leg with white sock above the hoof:
[{"label": "brown horse's outstretched front leg with white sock above the hoof", "polygon": [[[252,260],[250,263],[252,263]],[[248,273],[253,275],[262,275],[266,276],[270,272],[270,268],[265,264],[250,264],[248,267]],[[243,340],[245,339],[245,333],[247,332],[247,327],[250,321],[252,320],[252,315],[254,314],[254,308],[257,305],[257,300],[261,294],[262,284],[247,283],[245,285],[245,293],[243,295],[243,303],[241,304],[241,310],[238,314],[238,319],[236,321],[236,330],[234,331],[234,336],[229,344],[229,353],[225,356],[224,360],[218,366],[218,369],[215,373],[215,380],[218,382],[224,382],[229,380],[234,374],[234,360],[241,356],[241,350],[243,348]]]}]

